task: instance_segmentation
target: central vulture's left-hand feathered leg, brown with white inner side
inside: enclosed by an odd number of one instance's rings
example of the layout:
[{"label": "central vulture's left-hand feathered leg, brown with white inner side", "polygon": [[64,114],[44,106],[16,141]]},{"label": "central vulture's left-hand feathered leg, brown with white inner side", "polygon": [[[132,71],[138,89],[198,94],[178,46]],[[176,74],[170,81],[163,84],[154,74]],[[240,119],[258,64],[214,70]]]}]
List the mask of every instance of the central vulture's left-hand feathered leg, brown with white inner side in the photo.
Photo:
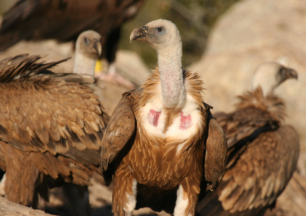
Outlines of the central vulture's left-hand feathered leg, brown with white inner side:
[{"label": "central vulture's left-hand feathered leg, brown with white inner side", "polygon": [[136,207],[136,195],[137,181],[121,163],[114,176],[112,197],[114,216],[131,216]]}]

